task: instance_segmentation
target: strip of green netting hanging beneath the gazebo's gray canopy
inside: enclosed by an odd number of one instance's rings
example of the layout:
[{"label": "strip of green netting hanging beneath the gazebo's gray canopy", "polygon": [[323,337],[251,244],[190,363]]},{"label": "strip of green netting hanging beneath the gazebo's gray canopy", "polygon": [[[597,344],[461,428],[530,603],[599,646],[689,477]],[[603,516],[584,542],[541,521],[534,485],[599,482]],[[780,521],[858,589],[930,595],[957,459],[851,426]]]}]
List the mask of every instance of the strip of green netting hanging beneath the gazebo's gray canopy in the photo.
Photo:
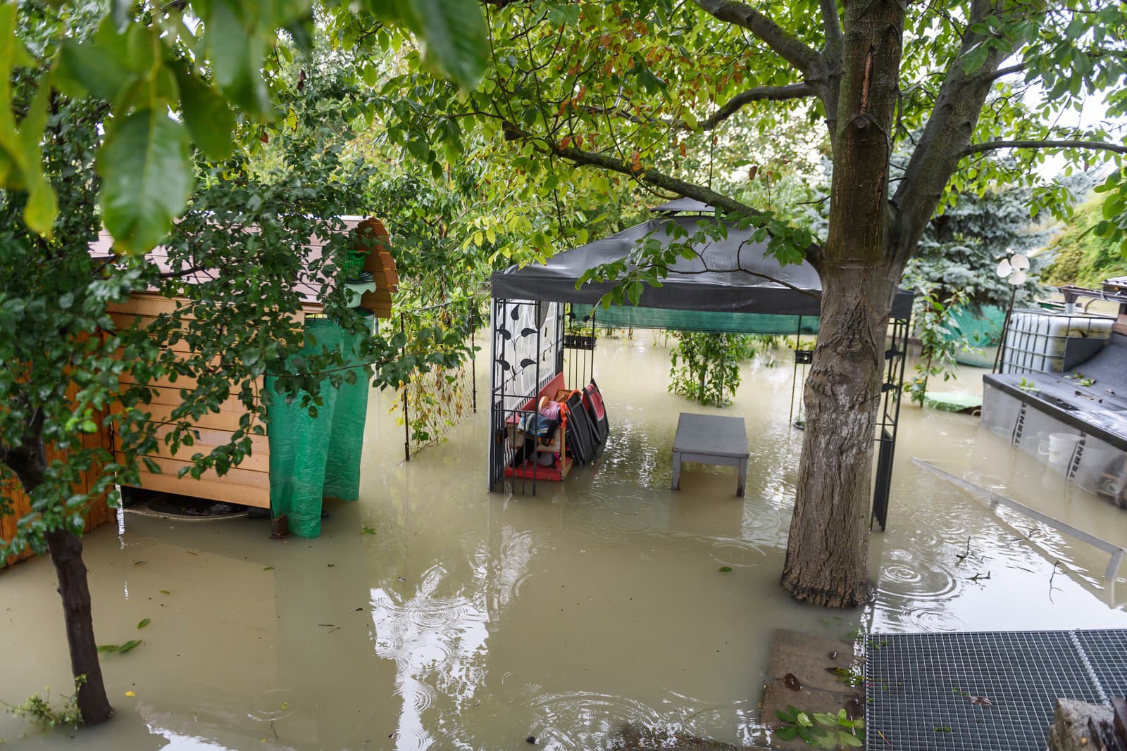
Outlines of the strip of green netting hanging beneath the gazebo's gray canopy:
[{"label": "strip of green netting hanging beneath the gazebo's gray canopy", "polygon": [[793,334],[817,333],[814,315],[772,315],[769,313],[721,313],[717,311],[680,311],[664,307],[611,305],[607,309],[571,304],[578,323],[595,310],[595,323],[613,329],[668,329],[671,331],[713,331],[718,333]]}]

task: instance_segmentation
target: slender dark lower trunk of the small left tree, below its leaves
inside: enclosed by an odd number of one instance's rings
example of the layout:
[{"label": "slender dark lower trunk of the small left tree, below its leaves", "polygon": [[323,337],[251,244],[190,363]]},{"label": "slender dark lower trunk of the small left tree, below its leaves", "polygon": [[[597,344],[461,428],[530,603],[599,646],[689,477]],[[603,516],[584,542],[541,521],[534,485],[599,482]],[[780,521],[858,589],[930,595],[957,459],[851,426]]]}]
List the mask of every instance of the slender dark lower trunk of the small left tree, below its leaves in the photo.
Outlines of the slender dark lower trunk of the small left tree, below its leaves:
[{"label": "slender dark lower trunk of the small left tree, below its leaves", "polygon": [[78,708],[87,725],[104,723],[113,716],[114,708],[106,697],[101,665],[98,662],[98,645],[94,638],[90,588],[86,578],[86,564],[82,563],[82,540],[73,533],[56,529],[47,533],[47,547],[59,576],[59,596],[63,599],[71,670],[78,681]]}]

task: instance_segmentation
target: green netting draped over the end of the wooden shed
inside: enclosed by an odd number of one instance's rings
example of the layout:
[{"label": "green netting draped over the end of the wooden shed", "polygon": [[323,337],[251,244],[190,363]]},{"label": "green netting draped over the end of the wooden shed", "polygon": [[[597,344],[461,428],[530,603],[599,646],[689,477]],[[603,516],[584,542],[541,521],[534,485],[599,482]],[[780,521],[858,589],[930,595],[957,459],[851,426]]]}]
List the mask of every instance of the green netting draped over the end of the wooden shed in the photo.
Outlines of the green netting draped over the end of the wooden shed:
[{"label": "green netting draped over the end of the wooden shed", "polygon": [[[357,338],[329,319],[308,319],[307,351],[328,347],[344,351],[355,361]],[[268,409],[270,440],[270,510],[275,517],[285,515],[290,533],[299,537],[321,534],[321,499],[360,498],[360,457],[364,446],[364,421],[367,417],[367,394],[371,391],[363,370],[356,382],[334,387],[328,378],[321,382],[323,402],[317,417],[301,409],[300,395],[286,404],[274,388],[275,378],[266,378],[266,390],[273,397]]]}]

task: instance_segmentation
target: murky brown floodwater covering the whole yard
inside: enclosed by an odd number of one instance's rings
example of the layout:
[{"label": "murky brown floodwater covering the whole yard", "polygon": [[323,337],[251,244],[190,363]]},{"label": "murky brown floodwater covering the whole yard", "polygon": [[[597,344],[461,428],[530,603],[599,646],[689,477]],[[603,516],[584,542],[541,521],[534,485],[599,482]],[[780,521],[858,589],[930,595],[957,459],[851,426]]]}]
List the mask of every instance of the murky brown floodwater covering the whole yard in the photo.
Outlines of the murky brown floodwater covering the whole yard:
[{"label": "murky brown floodwater covering the whole yard", "polygon": [[[747,421],[746,498],[730,470],[695,465],[674,492],[677,413],[711,408],[666,393],[662,339],[600,341],[606,449],[535,497],[486,492],[483,410],[403,463],[402,428],[373,399],[363,497],[330,503],[318,539],[270,540],[265,520],[134,513],[96,530],[99,643],[144,640],[103,659],[117,715],[76,740],[0,715],[3,746],[513,749],[535,736],[598,749],[625,723],[753,743],[775,628],[1127,627],[1127,572],[1103,580],[1107,554],[992,511],[912,459],[1120,545],[1127,511],[976,418],[915,406],[902,413],[888,530],[871,537],[876,604],[791,601],[778,585],[801,441],[789,356],[747,365],[721,410]],[[944,387],[979,390],[979,373]],[[69,692],[60,615],[48,561],[0,573],[0,699]]]}]

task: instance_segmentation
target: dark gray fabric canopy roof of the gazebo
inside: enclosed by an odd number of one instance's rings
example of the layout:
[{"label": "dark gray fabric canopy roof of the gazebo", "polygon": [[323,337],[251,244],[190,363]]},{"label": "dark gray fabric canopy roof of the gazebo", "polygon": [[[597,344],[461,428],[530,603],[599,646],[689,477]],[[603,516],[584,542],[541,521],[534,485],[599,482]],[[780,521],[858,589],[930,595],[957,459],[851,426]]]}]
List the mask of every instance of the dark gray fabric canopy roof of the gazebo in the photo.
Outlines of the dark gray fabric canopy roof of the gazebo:
[{"label": "dark gray fabric canopy roof of the gazebo", "polygon": [[[614,287],[614,283],[588,281],[576,288],[587,269],[629,259],[638,251],[641,242],[650,239],[665,247],[674,242],[684,243],[686,238],[698,232],[702,222],[715,222],[701,216],[710,207],[703,204],[696,206],[699,202],[693,202],[691,207],[673,205],[676,203],[659,206],[655,212],[699,213],[656,216],[616,234],[557,253],[545,263],[533,263],[524,268],[513,266],[504,271],[496,271],[492,275],[492,296],[588,305],[598,303]],[[678,231],[672,234],[671,223],[678,225]],[[753,240],[754,233],[755,227],[740,229],[727,222],[726,236],[710,239],[703,243],[703,248],[698,247],[699,257],[678,257],[669,267],[668,276],[662,280],[663,286],[647,285],[637,307],[618,306],[621,309],[618,312],[637,319],[631,321],[636,327],[713,331],[773,331],[781,323],[777,321],[764,328],[751,320],[740,322],[743,316],[730,314],[772,318],[820,315],[822,280],[814,267],[806,261],[782,266],[773,256],[766,254],[765,242]],[[612,306],[612,311],[613,307],[615,306]],[[683,314],[657,315],[655,320],[655,314],[637,309],[728,315],[707,315],[703,320],[695,321]],[[898,289],[893,302],[891,318],[907,319],[911,312],[912,293]],[[604,319],[602,311],[598,318]],[[795,331],[795,325],[791,323],[783,330]]]}]

